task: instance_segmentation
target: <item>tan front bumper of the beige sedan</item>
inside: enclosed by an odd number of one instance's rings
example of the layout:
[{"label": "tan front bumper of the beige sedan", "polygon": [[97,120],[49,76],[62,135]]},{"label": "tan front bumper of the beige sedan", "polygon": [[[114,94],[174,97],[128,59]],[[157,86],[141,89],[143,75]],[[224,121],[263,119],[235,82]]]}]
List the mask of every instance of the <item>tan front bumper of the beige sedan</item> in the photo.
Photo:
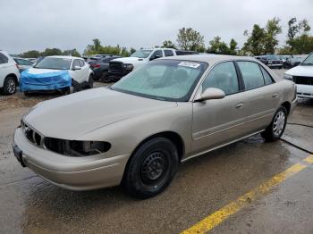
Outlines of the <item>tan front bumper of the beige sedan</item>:
[{"label": "tan front bumper of the beige sedan", "polygon": [[[71,190],[89,190],[119,185],[129,154],[69,157],[34,146],[21,128],[15,130],[13,146],[21,149],[21,164],[49,182]],[[16,147],[14,152],[16,151]]]}]

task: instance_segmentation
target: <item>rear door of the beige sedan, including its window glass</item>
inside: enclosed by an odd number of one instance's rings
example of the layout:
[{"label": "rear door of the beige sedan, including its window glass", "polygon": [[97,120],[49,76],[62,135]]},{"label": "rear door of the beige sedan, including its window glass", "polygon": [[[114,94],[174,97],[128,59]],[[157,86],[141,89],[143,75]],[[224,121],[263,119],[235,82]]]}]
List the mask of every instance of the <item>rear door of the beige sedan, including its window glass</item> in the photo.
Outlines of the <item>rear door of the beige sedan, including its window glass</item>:
[{"label": "rear door of the beige sedan, including its window glass", "polygon": [[276,111],[281,95],[269,73],[258,63],[238,61],[247,100],[246,127],[250,133],[268,126]]}]

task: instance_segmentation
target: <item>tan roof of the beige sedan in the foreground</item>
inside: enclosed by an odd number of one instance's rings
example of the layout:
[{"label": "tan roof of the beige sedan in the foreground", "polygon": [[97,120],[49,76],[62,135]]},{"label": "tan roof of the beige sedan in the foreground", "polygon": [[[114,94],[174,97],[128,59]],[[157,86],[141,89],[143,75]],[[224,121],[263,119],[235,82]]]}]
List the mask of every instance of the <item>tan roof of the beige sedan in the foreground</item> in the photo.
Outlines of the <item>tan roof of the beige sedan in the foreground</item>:
[{"label": "tan roof of the beige sedan in the foreground", "polygon": [[222,54],[188,54],[188,55],[164,57],[160,59],[198,61],[198,62],[205,62],[209,64],[214,64],[214,63],[222,62],[225,60],[249,60],[249,61],[258,62],[257,59],[253,57],[249,57],[249,56],[233,56],[233,55],[222,55]]}]

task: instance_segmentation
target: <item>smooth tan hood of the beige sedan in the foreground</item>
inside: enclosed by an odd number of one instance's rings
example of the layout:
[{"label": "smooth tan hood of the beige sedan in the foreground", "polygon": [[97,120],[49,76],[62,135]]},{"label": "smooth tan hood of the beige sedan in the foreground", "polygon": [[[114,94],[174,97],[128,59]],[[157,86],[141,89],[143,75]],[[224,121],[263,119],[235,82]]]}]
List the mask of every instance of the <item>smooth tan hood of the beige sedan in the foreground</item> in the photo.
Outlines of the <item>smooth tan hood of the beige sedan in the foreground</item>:
[{"label": "smooth tan hood of the beige sedan in the foreground", "polygon": [[46,137],[75,139],[114,122],[176,106],[175,102],[93,88],[42,102],[24,121]]}]

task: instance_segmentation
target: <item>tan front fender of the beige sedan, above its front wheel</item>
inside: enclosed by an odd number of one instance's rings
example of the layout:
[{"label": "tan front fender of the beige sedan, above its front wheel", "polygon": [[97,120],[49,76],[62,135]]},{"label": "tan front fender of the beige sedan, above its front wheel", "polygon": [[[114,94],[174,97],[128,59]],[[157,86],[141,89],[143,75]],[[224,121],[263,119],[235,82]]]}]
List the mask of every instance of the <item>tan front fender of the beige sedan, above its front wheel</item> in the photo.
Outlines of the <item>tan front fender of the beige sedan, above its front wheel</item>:
[{"label": "tan front fender of the beige sedan, above its front wheel", "polygon": [[179,103],[176,107],[142,114],[117,121],[93,130],[78,140],[106,141],[111,149],[106,157],[132,154],[145,139],[165,131],[177,133],[183,140],[184,152],[190,151],[192,104]]}]

